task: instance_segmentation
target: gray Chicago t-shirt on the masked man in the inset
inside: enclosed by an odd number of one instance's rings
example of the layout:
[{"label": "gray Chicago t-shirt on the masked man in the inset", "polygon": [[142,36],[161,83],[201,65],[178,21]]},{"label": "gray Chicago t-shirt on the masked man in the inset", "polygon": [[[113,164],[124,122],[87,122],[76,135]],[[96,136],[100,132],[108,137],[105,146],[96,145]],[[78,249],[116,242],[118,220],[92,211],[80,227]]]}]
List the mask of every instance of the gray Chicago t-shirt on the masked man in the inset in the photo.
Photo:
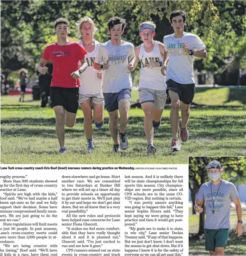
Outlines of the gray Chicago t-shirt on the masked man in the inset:
[{"label": "gray Chicago t-shirt on the masked man in the inset", "polygon": [[[197,199],[205,201],[205,228],[207,229],[230,228],[230,203],[238,197],[238,191],[231,182],[222,180],[220,188],[219,185],[212,184],[211,194],[211,182],[204,183],[197,195]],[[217,191],[218,195],[216,197]],[[212,200],[215,200],[214,214]]]}]

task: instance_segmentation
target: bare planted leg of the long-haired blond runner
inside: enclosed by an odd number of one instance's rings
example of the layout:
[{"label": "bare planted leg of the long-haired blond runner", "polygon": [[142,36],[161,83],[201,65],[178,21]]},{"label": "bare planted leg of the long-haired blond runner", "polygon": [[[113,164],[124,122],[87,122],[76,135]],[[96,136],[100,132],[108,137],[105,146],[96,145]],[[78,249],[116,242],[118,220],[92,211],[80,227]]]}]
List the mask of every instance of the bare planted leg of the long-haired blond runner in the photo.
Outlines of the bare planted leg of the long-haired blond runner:
[{"label": "bare planted leg of the long-haired blond runner", "polygon": [[92,139],[93,130],[92,130],[92,110],[91,110],[91,100],[87,99],[81,104],[81,109],[84,113],[84,130],[85,137],[87,140]]}]

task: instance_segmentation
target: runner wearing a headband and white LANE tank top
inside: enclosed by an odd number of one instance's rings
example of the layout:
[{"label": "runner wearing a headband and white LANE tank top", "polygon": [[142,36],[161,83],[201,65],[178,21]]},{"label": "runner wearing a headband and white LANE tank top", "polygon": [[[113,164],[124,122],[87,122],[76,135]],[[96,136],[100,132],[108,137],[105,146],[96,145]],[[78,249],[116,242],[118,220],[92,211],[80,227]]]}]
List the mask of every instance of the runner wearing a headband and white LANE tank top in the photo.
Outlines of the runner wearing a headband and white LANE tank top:
[{"label": "runner wearing a headband and white LANE tank top", "polygon": [[[153,145],[153,128],[159,128],[161,115],[166,102],[165,78],[161,74],[161,60],[164,57],[165,46],[154,41],[156,25],[151,21],[140,25],[139,35],[143,44],[135,48],[134,68],[140,59],[139,102],[145,113],[144,129],[148,141],[147,153],[155,153]],[[165,55],[167,56],[167,54]],[[166,60],[165,60],[166,61]]]}]

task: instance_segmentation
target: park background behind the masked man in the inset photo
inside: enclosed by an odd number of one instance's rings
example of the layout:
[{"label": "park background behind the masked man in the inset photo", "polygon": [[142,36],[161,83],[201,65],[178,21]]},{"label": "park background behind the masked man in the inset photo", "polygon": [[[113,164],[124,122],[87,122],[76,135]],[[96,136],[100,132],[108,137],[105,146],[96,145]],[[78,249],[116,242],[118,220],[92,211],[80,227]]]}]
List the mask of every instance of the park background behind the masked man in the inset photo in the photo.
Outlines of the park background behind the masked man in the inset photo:
[{"label": "park background behind the masked man in the inset photo", "polygon": [[[230,234],[224,255],[246,255],[246,157],[189,157],[189,255],[209,255],[205,251],[205,235],[203,218],[206,215],[194,211],[196,195],[201,185],[209,182],[207,165],[210,161],[221,163],[222,179],[232,182],[237,190],[242,206],[243,234],[238,238],[235,234],[237,215],[232,202],[230,208]],[[202,205],[205,213],[205,206]]]}]

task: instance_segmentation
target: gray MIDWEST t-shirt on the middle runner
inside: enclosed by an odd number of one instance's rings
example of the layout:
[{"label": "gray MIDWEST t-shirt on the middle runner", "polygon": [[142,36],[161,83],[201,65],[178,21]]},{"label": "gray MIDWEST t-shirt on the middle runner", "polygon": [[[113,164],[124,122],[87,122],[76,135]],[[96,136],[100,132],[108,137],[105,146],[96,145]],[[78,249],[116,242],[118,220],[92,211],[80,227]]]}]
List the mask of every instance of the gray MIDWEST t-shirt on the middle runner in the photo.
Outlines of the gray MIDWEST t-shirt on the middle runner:
[{"label": "gray MIDWEST t-shirt on the middle runner", "polygon": [[109,60],[109,69],[103,70],[102,92],[119,92],[132,88],[132,76],[128,64],[135,57],[133,44],[123,41],[121,45],[112,45],[111,41],[101,44],[95,62],[103,64]]}]

